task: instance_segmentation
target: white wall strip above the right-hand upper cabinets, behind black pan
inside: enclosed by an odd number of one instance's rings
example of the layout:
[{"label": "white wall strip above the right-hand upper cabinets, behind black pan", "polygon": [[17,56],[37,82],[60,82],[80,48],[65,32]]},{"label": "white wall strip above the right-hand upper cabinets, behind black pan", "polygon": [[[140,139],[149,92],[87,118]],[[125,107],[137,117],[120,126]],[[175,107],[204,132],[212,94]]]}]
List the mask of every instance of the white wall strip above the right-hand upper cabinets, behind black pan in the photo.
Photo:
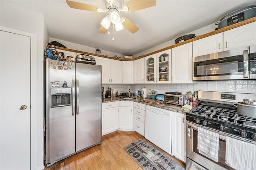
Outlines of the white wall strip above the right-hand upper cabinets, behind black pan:
[{"label": "white wall strip above the right-hand upper cabinets, behind black pan", "polygon": [[[197,36],[201,36],[201,35],[203,35],[203,34],[206,34],[206,33],[209,33],[209,32],[214,31],[216,27],[218,27],[218,26],[216,26],[215,23],[214,23],[214,24],[210,24],[210,25],[208,25],[208,26],[205,26],[205,27],[203,27],[203,28],[200,28],[200,29],[198,29],[198,30],[189,32],[188,34],[196,34],[196,37],[197,37]],[[184,35],[187,35],[187,34],[184,34]],[[180,36],[183,36],[183,35],[180,35]],[[178,37],[177,37],[177,38],[178,38]],[[176,38],[175,38],[175,39],[176,39]],[[159,49],[163,49],[163,48],[165,48],[165,47],[169,47],[169,46],[171,46],[171,45],[174,45],[174,40],[175,40],[175,39],[170,40],[170,41],[165,42],[165,43],[162,43],[162,44],[160,44],[160,45],[157,45],[157,46],[155,46],[155,47],[152,47],[152,48],[147,49],[147,50],[145,50],[145,51],[142,51],[142,52],[140,52],[140,53],[137,53],[137,54],[134,55],[134,58],[139,57],[140,55],[146,55],[146,54],[148,54],[148,53],[152,53],[152,52],[157,51],[157,50],[159,50]]]}]

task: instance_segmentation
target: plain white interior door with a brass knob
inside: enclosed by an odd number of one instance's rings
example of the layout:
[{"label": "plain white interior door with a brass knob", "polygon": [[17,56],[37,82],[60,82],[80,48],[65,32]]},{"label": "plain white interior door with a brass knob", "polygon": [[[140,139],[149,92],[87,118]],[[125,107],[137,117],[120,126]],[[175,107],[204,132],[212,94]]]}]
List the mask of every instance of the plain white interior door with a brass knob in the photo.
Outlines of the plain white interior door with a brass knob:
[{"label": "plain white interior door with a brass knob", "polygon": [[30,37],[0,31],[0,94],[0,169],[28,170]]}]

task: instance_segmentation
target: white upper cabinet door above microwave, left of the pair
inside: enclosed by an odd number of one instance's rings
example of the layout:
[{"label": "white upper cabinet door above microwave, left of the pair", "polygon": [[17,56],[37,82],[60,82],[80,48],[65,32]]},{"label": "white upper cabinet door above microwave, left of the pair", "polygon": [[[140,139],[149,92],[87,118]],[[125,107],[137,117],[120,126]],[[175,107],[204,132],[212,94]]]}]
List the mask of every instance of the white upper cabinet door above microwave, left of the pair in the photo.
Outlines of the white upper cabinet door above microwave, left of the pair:
[{"label": "white upper cabinet door above microwave, left of the pair", "polygon": [[223,51],[223,33],[193,42],[193,57]]}]

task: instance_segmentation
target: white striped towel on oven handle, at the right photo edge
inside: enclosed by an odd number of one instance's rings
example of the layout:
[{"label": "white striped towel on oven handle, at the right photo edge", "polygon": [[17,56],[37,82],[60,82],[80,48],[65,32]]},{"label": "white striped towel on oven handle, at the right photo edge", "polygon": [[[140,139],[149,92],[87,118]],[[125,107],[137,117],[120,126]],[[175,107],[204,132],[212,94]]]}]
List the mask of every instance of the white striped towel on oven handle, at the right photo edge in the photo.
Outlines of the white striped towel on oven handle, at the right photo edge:
[{"label": "white striped towel on oven handle, at the right photo edge", "polygon": [[225,163],[236,170],[255,170],[256,144],[226,136]]}]

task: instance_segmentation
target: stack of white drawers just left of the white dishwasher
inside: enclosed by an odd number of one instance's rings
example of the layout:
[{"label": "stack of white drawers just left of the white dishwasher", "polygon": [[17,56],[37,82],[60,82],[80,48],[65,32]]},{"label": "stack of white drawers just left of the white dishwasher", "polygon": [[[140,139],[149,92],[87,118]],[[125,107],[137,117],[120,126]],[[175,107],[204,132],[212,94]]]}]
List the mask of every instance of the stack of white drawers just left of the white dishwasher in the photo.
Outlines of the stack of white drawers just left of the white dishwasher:
[{"label": "stack of white drawers just left of the white dishwasher", "polygon": [[133,103],[133,130],[145,136],[145,105]]}]

